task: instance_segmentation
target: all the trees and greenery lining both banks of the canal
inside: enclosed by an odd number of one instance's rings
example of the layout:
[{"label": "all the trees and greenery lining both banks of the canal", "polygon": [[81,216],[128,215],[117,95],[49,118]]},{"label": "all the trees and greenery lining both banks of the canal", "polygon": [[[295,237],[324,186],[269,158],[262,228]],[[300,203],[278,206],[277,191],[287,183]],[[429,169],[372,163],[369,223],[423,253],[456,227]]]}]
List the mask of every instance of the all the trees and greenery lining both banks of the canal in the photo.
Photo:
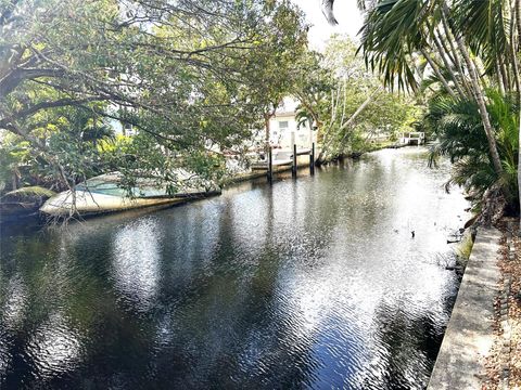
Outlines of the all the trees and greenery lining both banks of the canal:
[{"label": "all the trees and greenery lining both banks of the canal", "polygon": [[219,181],[293,96],[318,162],[425,131],[474,210],[517,212],[520,0],[358,3],[359,43],[317,53],[287,0],[0,0],[0,191]]}]

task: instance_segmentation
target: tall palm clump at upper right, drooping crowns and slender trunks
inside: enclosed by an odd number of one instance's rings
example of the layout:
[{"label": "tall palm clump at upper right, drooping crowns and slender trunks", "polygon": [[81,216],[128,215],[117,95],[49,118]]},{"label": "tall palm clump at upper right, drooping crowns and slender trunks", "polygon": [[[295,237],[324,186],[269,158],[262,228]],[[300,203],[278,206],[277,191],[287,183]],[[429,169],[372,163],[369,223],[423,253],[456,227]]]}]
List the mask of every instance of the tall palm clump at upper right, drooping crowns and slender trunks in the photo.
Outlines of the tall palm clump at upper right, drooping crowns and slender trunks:
[{"label": "tall palm clump at upper right, drooping crowns and slender trunks", "polygon": [[366,63],[390,88],[416,90],[425,77],[416,66],[423,57],[441,93],[476,103],[497,178],[504,173],[496,142],[501,129],[491,120],[486,89],[495,84],[519,105],[519,12],[518,0],[377,1],[368,2],[363,28]]}]

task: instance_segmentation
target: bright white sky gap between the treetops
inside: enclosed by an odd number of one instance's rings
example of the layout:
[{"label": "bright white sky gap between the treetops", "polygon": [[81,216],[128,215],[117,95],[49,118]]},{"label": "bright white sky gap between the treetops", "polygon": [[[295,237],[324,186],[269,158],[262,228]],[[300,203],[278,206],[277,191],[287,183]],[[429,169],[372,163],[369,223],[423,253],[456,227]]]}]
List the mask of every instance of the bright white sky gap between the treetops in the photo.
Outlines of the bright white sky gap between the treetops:
[{"label": "bright white sky gap between the treetops", "polygon": [[306,21],[313,27],[309,29],[309,48],[314,50],[323,50],[328,38],[332,34],[347,34],[355,38],[361,28],[363,17],[356,0],[336,0],[333,11],[339,24],[330,26],[322,15],[320,8],[321,0],[292,0],[306,14]]}]

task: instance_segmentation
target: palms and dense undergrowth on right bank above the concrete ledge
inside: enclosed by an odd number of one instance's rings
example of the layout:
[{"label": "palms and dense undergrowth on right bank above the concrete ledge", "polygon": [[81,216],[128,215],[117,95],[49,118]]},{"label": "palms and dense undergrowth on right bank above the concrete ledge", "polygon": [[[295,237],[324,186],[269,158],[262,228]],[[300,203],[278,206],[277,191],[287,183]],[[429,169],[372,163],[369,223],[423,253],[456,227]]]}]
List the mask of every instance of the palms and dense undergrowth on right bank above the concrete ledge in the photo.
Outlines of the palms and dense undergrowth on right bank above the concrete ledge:
[{"label": "palms and dense undergrowth on right bank above the concrete ledge", "polygon": [[[364,5],[364,4],[363,4]],[[391,89],[420,94],[435,155],[483,221],[519,211],[519,0],[367,2],[360,51]]]}]

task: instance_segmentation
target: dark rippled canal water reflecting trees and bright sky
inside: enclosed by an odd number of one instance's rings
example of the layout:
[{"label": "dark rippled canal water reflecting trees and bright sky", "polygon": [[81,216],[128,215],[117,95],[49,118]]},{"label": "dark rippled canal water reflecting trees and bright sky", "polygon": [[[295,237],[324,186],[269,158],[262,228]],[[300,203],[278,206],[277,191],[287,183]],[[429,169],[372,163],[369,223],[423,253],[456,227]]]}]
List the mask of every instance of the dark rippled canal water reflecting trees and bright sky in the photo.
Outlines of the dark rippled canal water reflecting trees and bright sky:
[{"label": "dark rippled canal water reflecting trees and bright sky", "polygon": [[[467,204],[422,148],[2,231],[0,388],[421,389]],[[411,231],[416,237],[411,237]]]}]

